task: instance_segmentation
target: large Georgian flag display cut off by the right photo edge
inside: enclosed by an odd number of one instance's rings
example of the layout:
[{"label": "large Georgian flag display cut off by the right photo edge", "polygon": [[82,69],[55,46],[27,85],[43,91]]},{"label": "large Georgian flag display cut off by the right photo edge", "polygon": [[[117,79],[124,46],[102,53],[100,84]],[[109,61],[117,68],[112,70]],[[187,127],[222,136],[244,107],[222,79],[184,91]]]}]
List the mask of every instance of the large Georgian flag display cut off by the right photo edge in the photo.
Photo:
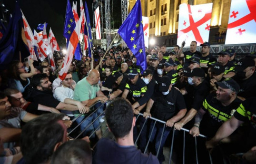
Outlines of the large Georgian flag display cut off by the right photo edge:
[{"label": "large Georgian flag display cut off by the right photo edge", "polygon": [[225,44],[256,42],[256,0],[232,0]]}]

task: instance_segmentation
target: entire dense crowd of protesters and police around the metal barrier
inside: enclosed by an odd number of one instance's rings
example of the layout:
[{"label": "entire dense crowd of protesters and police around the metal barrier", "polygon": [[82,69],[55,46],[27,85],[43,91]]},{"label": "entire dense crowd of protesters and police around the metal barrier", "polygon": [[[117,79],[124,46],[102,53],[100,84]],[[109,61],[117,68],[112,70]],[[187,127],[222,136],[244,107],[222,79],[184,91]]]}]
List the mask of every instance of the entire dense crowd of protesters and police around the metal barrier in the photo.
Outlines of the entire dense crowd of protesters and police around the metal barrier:
[{"label": "entire dense crowd of protesters and police around the metal barrier", "polygon": [[[172,128],[178,130],[175,164],[182,163],[182,128],[189,130],[186,164],[196,161],[191,143],[199,134],[208,137],[197,137],[200,163],[209,163],[207,149],[218,164],[236,153],[245,153],[245,164],[256,163],[256,53],[237,60],[234,49],[211,54],[208,42],[200,52],[196,41],[188,51],[184,45],[170,52],[165,45],[146,48],[146,70],[129,49],[96,48],[93,58],[73,60],[63,80],[58,72],[64,57],[58,52],[55,71],[47,59],[12,61],[0,74],[0,163],[161,164]],[[106,107],[107,101],[113,102]],[[135,120],[139,113],[143,116]],[[104,121],[116,143],[102,138]],[[79,124],[81,139],[67,142],[72,124]],[[91,146],[98,141],[93,153],[88,136]],[[142,153],[133,146],[138,136]]]}]

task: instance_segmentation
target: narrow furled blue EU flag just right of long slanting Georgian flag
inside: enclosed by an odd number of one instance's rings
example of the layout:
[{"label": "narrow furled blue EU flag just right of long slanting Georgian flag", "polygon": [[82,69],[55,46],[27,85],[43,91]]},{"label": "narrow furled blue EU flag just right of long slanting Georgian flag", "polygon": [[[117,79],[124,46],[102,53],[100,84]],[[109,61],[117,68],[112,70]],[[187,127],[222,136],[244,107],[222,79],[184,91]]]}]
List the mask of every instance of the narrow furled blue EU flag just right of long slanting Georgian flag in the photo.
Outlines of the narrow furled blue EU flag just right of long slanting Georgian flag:
[{"label": "narrow furled blue EU flag just right of long slanting Georgian flag", "polygon": [[[91,57],[91,49],[92,49],[92,37],[91,37],[91,23],[90,23],[90,16],[89,16],[89,11],[87,8],[87,3],[85,1],[85,19],[86,19],[86,24],[87,26],[84,26],[84,34],[88,36],[88,52],[89,52],[89,57]],[[88,31],[87,31],[88,30]]]}]

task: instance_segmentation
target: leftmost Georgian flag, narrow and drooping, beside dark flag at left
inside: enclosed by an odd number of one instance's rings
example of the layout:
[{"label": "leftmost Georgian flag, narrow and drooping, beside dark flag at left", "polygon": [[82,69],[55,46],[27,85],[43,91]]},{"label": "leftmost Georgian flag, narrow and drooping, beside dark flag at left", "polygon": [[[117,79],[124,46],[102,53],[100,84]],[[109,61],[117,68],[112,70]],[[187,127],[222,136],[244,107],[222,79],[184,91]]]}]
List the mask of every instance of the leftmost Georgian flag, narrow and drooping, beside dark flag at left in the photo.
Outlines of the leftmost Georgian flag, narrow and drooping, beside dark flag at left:
[{"label": "leftmost Georgian flag, narrow and drooping, beside dark flag at left", "polygon": [[[21,12],[22,13],[22,12]],[[30,50],[30,58],[32,58],[33,60],[36,60],[37,61],[37,57],[36,57],[36,54],[35,54],[35,51],[34,51],[34,46],[33,46],[33,42],[34,42],[34,35],[32,33],[32,30],[30,29],[30,25],[27,21],[27,19],[25,18],[25,16],[23,15],[22,13],[22,19],[23,19],[23,24],[24,24],[24,33],[25,33],[25,38],[28,42],[28,47],[29,47],[29,50]]]}]

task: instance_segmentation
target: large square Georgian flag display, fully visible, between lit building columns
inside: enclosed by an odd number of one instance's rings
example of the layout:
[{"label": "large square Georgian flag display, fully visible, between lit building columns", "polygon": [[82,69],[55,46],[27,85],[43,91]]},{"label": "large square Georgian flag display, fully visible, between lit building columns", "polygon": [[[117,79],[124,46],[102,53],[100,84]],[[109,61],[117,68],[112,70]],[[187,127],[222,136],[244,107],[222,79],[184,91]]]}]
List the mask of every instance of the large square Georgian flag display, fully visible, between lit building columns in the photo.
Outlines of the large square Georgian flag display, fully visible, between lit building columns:
[{"label": "large square Georgian flag display, fully visible, between lit building columns", "polygon": [[190,46],[191,41],[197,45],[208,42],[212,16],[212,3],[201,5],[179,5],[177,45],[186,40],[185,46]]}]

